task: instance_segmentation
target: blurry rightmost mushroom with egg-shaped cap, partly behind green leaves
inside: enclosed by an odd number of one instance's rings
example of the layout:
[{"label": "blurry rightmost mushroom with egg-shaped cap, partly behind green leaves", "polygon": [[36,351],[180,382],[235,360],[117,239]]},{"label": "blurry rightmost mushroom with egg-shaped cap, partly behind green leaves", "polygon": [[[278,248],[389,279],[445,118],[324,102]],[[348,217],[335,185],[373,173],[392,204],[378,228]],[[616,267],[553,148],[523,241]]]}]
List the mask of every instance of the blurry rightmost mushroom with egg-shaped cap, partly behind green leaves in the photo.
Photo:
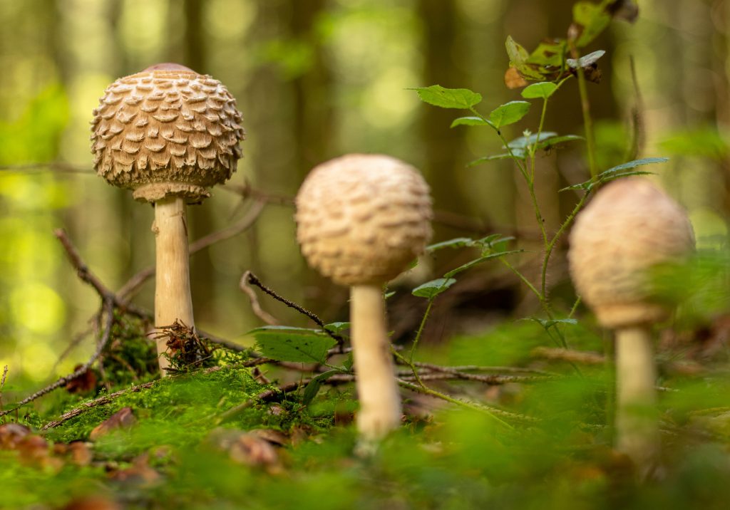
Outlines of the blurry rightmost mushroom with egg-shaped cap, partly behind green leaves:
[{"label": "blurry rightmost mushroom with egg-shaped cap, partly behind green leaves", "polygon": [[578,215],[569,263],[577,291],[599,323],[615,330],[616,440],[643,471],[658,453],[656,369],[650,327],[671,312],[652,295],[649,271],[694,250],[683,209],[647,179],[606,185]]}]

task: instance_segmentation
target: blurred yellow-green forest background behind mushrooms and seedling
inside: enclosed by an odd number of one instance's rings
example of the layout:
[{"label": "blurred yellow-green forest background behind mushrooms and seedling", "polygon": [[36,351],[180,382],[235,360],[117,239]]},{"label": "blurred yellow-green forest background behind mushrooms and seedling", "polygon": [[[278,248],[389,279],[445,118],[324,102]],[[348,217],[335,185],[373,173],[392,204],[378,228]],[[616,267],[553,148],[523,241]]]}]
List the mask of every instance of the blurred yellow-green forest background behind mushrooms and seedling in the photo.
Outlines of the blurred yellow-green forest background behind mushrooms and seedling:
[{"label": "blurred yellow-green forest background behind mushrooms and seedling", "polygon": [[[565,36],[572,0],[0,0],[0,369],[47,379],[88,358],[99,298],[67,262],[64,228],[112,289],[153,263],[153,209],[96,177],[89,121],[104,88],[158,62],[183,63],[227,85],[244,115],[245,157],[226,187],[189,208],[191,241],[235,224],[271,198],[252,228],[193,255],[196,323],[234,341],[261,325],[238,288],[246,269],[326,322],[347,319],[346,292],[320,279],[294,241],[288,198],[313,166],[346,152],[383,152],[418,166],[433,188],[436,241],[500,232],[537,246],[534,215],[511,163],[466,168],[499,152],[491,131],[454,128],[459,112],[421,103],[408,88],[471,88],[483,113],[518,99],[503,84],[504,39],[529,50]],[[600,169],[623,162],[640,120],[640,157],[672,160],[656,179],[689,210],[701,246],[725,239],[730,207],[730,2],[642,0],[634,25],[612,23],[588,50],[606,50],[590,84]],[[636,70],[632,80],[630,59]],[[638,107],[638,110],[637,110]],[[512,128],[537,130],[537,108]],[[641,112],[641,115],[636,112]],[[545,129],[583,134],[577,83],[550,103]],[[539,200],[554,229],[575,204],[559,188],[588,178],[585,147],[539,159]],[[440,252],[393,284],[395,338],[413,331],[423,303],[410,288],[474,254]],[[530,274],[531,258],[520,264]],[[573,295],[564,246],[550,269],[559,303]],[[564,296],[561,301],[561,296]],[[261,298],[281,322],[306,318]],[[153,282],[134,298],[152,308]],[[536,307],[496,264],[439,298],[426,341],[488,328]],[[77,341],[80,340],[80,341]],[[77,346],[60,363],[59,355]],[[74,344],[74,345],[75,345]]]}]

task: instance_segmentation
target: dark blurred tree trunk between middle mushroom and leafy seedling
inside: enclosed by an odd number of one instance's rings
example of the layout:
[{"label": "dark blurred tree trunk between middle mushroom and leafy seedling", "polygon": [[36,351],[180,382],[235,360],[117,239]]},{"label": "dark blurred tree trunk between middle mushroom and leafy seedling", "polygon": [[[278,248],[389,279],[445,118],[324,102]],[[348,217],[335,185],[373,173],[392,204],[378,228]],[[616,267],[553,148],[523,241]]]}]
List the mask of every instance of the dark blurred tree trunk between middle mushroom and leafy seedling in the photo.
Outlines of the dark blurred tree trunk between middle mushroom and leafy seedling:
[{"label": "dark blurred tree trunk between middle mushroom and leafy seedling", "polygon": [[[454,55],[462,50],[457,42],[457,3],[420,0],[418,9],[423,20],[423,84],[465,87],[466,74],[454,63]],[[422,170],[431,184],[434,208],[468,213],[468,201],[454,178],[456,166],[464,154],[465,130],[449,128],[455,117],[454,110],[424,107],[421,112],[421,146],[426,156]],[[437,232],[437,236],[449,236],[451,233]]]}]

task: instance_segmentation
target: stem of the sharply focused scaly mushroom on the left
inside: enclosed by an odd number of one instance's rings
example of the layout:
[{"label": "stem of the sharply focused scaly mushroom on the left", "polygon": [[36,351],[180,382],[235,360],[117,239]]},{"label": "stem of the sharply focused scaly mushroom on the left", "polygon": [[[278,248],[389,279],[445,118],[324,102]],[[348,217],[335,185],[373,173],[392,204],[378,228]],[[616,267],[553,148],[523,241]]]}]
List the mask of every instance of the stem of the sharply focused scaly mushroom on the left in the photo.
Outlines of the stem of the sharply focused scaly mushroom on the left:
[{"label": "stem of the sharply focused scaly mushroom on the left", "polygon": [[[190,292],[190,258],[188,253],[188,220],[185,199],[166,196],[155,202],[155,326],[172,325],[175,320],[194,328],[193,301]],[[167,351],[166,339],[157,339],[157,352]],[[169,366],[159,356],[160,370]]]}]

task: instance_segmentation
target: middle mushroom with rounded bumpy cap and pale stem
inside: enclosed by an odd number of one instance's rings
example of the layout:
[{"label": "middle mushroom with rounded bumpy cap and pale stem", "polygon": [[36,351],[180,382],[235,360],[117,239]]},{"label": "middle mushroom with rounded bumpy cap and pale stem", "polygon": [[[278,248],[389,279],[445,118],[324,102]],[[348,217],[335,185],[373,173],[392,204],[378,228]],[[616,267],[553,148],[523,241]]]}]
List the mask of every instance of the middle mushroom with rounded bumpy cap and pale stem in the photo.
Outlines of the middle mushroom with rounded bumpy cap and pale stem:
[{"label": "middle mushroom with rounded bumpy cap and pale stem", "polygon": [[296,196],[301,252],[324,276],[350,286],[357,423],[368,440],[382,437],[401,420],[383,285],[423,252],[430,220],[423,177],[385,155],[345,155],[322,163]]}]

